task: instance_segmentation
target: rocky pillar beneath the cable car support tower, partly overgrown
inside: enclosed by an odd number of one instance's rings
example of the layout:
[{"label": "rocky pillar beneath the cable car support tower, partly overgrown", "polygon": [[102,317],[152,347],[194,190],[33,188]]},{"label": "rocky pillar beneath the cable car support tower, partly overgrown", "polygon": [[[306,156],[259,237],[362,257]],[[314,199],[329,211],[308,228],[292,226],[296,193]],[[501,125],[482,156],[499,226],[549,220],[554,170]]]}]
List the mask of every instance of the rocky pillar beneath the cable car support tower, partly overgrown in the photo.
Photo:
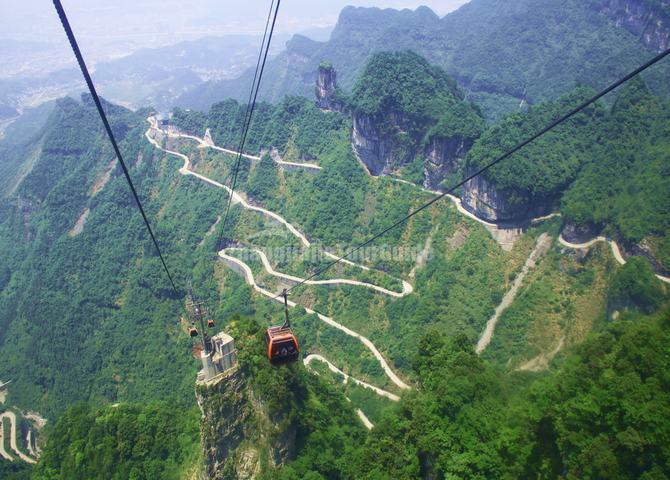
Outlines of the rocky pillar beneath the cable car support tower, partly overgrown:
[{"label": "rocky pillar beneath the cable car support tower, partly overgrown", "polygon": [[271,415],[243,370],[233,369],[214,385],[198,385],[196,397],[202,411],[203,480],[253,479],[295,456],[293,420]]}]

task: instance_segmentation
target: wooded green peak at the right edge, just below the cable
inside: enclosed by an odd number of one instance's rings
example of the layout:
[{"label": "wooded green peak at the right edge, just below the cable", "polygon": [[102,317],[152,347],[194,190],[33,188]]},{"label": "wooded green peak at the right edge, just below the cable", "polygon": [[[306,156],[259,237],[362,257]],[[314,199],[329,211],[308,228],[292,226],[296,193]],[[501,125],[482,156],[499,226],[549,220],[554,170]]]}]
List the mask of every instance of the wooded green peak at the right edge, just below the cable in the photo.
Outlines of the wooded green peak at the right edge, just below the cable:
[{"label": "wooded green peak at the right edge, just below the cable", "polygon": [[590,161],[563,199],[578,225],[606,226],[629,243],[652,237],[670,265],[670,104],[639,80],[625,88],[599,126]]}]

